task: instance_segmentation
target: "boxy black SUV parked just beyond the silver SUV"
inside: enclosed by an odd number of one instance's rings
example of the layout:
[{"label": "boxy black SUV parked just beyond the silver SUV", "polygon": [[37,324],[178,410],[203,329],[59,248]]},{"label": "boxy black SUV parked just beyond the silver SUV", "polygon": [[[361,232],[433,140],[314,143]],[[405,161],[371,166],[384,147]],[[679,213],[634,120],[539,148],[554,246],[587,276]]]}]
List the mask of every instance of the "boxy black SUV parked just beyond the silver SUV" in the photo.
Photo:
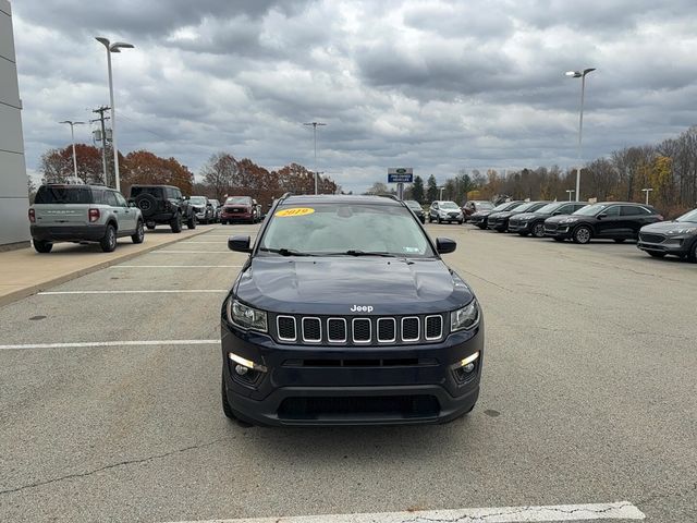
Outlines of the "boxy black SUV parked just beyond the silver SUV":
[{"label": "boxy black SUV parked just beyond the silver SUV", "polygon": [[182,232],[182,223],[196,229],[196,212],[179,187],[172,185],[132,185],[131,198],[143,214],[145,226],[152,230],[168,224],[172,232]]}]

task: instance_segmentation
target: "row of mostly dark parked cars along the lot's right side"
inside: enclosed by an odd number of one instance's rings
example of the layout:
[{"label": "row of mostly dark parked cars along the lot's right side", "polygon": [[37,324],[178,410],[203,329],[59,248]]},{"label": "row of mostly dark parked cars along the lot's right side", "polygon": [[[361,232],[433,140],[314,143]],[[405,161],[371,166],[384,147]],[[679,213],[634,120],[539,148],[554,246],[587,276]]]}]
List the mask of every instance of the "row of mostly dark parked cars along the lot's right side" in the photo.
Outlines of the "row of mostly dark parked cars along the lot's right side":
[{"label": "row of mostly dark parked cars along the lot's right side", "polygon": [[697,263],[697,209],[663,221],[652,206],[633,202],[508,202],[493,209],[475,211],[468,221],[480,229],[551,238],[557,242],[636,240],[637,247],[650,256],[674,255]]}]

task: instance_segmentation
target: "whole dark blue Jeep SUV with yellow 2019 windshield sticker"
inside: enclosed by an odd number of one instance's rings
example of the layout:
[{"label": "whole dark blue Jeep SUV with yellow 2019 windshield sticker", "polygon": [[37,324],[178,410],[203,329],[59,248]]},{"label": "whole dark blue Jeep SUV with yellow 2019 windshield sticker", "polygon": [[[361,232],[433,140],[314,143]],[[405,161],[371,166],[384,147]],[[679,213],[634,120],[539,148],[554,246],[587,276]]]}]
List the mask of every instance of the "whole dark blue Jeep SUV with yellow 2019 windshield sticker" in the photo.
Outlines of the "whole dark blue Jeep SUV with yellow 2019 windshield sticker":
[{"label": "whole dark blue Jeep SUV with yellow 2019 windshield sticker", "polygon": [[475,295],[399,200],[285,196],[222,306],[222,408],[257,425],[443,423],[474,408]]}]

